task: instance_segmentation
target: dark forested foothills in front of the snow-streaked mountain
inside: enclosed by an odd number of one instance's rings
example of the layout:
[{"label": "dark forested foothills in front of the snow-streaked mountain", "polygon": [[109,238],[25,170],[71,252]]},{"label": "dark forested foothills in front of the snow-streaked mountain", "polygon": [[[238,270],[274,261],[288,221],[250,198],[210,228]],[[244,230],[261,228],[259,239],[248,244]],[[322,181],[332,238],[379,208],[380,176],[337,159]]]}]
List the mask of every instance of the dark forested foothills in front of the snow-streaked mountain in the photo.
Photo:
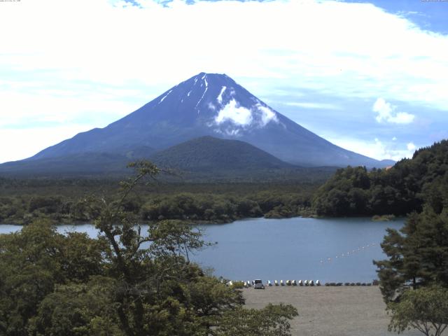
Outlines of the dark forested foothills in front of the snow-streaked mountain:
[{"label": "dark forested foothills in front of the snow-streaked mountain", "polygon": [[[145,148],[146,149],[146,148]],[[0,165],[5,176],[36,177],[118,177],[129,174],[127,163],[148,159],[174,172],[160,179],[180,181],[325,181],[335,167],[297,167],[244,141],[200,137],[152,155],[146,151],[127,155],[74,153],[57,158],[8,162]]]}]

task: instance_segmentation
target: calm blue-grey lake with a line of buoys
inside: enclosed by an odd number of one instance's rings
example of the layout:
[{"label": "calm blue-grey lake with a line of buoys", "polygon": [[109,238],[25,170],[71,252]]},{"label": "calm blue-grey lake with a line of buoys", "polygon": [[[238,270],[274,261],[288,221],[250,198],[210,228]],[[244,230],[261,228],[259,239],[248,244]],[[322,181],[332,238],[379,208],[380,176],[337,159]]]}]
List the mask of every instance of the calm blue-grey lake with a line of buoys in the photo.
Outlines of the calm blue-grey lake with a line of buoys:
[{"label": "calm blue-grey lake with a line of buoys", "polygon": [[[399,229],[404,219],[372,222],[370,218],[255,218],[229,224],[199,225],[207,241],[217,241],[193,256],[216,276],[232,280],[317,279],[321,282],[371,282],[372,260],[384,259],[379,244],[386,228]],[[0,233],[20,230],[0,225]],[[90,224],[59,225],[96,237]]]}]

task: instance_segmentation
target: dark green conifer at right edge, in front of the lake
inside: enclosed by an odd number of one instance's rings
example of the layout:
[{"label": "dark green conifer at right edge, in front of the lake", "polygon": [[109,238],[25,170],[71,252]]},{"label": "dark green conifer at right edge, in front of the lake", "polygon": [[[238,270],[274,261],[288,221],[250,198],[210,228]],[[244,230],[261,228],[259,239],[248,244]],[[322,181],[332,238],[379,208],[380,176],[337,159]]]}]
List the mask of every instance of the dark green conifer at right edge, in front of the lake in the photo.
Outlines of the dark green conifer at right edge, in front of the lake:
[{"label": "dark green conifer at right edge, in front of the lake", "polygon": [[448,211],[426,207],[412,214],[398,232],[388,229],[381,244],[387,260],[375,261],[381,290],[389,300],[404,283],[414,288],[440,283],[448,286]]}]

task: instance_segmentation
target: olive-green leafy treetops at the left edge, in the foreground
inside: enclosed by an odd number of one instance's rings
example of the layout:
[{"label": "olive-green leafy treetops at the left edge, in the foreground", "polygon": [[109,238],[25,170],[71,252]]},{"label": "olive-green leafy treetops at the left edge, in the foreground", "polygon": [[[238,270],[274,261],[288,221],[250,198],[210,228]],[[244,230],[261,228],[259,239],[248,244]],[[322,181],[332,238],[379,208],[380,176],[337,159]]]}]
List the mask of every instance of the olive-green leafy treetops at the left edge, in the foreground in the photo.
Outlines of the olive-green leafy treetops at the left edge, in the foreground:
[{"label": "olive-green leafy treetops at the left edge, in the foreground", "polygon": [[29,320],[58,284],[82,282],[104,272],[103,239],[59,235],[48,221],[0,236],[0,331],[27,335]]}]

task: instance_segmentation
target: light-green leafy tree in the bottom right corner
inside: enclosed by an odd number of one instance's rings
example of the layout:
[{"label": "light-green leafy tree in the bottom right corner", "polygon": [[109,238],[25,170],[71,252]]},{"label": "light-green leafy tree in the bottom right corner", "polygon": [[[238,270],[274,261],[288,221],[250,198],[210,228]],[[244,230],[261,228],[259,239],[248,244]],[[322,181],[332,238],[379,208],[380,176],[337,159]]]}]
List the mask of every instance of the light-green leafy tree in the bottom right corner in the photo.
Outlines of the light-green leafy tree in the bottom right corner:
[{"label": "light-green leafy tree in the bottom right corner", "polygon": [[440,336],[448,326],[448,290],[440,286],[406,290],[400,302],[388,304],[389,331],[415,328],[426,336]]}]

